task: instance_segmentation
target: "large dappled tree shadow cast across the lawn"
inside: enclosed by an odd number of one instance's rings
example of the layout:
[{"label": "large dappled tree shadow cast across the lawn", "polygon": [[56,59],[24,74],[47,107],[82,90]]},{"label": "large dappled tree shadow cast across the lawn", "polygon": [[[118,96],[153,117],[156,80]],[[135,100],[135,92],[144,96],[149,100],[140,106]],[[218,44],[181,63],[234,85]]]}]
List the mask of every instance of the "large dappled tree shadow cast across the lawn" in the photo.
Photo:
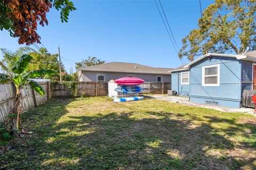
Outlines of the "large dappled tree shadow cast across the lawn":
[{"label": "large dappled tree shadow cast across the lawn", "polygon": [[237,160],[218,152],[250,147],[248,143],[235,146],[211,124],[228,123],[225,133],[241,133],[245,137],[245,126],[255,133],[252,125],[214,116],[200,120],[186,113],[171,118],[172,113],[167,112],[146,112],[143,118],[134,116],[134,112],[88,116],[74,112],[68,115],[67,121],[59,123],[68,112],[65,106],[70,101],[47,103],[39,113],[35,109],[26,115],[30,126],[25,128],[35,134],[26,137],[23,143],[16,141],[8,150],[10,153],[1,158],[6,168],[239,169],[253,166],[254,158]]}]

